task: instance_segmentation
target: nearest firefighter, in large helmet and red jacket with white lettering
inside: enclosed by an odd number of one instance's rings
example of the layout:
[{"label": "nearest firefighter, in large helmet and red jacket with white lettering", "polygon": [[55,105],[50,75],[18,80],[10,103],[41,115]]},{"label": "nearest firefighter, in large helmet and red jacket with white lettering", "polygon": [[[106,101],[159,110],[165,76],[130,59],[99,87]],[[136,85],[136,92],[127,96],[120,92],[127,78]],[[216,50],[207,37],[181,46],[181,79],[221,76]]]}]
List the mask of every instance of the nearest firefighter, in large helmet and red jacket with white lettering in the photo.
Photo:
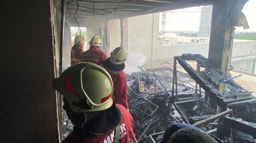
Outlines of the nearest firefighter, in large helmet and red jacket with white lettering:
[{"label": "nearest firefighter, in large helmet and red jacket with white lettering", "polygon": [[129,143],[131,114],[112,101],[113,83],[102,67],[88,62],[67,68],[53,80],[54,89],[67,100],[76,118],[74,130],[62,143]]}]

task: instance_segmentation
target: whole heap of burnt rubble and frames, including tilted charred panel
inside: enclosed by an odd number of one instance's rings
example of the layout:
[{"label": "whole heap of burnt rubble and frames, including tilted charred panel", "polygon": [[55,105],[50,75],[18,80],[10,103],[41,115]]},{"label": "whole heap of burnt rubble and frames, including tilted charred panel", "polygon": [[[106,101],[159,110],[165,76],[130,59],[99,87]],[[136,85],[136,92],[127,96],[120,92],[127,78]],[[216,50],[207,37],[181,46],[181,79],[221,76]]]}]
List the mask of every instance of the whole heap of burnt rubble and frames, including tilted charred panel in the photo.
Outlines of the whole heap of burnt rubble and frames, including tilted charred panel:
[{"label": "whole heap of burnt rubble and frames, including tilted charred panel", "polygon": [[[176,60],[187,73],[177,70]],[[196,61],[196,70],[185,60]],[[228,77],[199,54],[183,54],[174,57],[173,64],[168,61],[160,61],[160,64],[164,67],[147,70],[139,67],[141,71],[126,74],[129,109],[135,122],[133,131],[139,143],[160,142],[168,125],[177,122],[193,124],[213,135],[219,133],[217,136],[224,142],[234,139],[256,141],[253,138],[255,134],[245,130],[256,129],[256,99],[252,92],[242,88],[232,80],[234,78]],[[200,71],[200,67],[204,70]],[[213,87],[221,83],[227,84],[227,92],[218,92]],[[210,95],[206,99],[205,90]],[[210,97],[222,109],[229,109],[217,114],[211,108]],[[219,131],[217,127],[220,127]],[[229,132],[226,128],[230,128]],[[233,131],[233,128],[236,130]],[[232,134],[240,135],[235,138]]]}]

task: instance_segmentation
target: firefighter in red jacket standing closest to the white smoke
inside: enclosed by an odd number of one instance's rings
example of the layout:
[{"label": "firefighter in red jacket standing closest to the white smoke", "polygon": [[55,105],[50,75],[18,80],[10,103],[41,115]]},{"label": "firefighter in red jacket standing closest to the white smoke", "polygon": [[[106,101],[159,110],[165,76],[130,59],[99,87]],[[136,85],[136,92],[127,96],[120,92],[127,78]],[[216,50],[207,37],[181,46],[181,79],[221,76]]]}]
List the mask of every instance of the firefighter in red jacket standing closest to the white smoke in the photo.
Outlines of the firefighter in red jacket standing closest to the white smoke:
[{"label": "firefighter in red jacket standing closest to the white smoke", "polygon": [[123,105],[129,111],[127,103],[126,75],[123,71],[126,58],[126,49],[124,47],[117,47],[111,52],[110,57],[105,61],[100,62],[99,65],[108,71],[112,78],[114,85],[113,101],[115,101],[116,104]]}]

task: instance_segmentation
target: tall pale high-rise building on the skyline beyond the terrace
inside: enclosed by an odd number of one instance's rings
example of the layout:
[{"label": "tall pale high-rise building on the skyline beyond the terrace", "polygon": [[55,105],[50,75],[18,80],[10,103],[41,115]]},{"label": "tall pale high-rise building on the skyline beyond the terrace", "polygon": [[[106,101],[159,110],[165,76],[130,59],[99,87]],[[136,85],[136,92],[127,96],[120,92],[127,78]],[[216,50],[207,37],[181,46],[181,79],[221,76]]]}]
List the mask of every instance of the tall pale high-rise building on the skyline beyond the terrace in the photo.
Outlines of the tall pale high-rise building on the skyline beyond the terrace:
[{"label": "tall pale high-rise building on the skyline beyond the terrace", "polygon": [[210,37],[212,13],[213,5],[207,5],[201,8],[198,37]]}]

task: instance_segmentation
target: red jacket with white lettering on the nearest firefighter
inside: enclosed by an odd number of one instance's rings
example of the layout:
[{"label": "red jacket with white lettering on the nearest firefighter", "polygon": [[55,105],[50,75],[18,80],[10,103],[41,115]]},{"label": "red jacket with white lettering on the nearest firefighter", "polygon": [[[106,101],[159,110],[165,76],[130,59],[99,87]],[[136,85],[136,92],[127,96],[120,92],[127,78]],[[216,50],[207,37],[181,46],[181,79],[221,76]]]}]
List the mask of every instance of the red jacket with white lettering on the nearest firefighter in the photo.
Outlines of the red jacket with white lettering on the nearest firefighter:
[{"label": "red jacket with white lettering on the nearest firefighter", "polygon": [[[122,106],[116,104],[116,107],[120,109],[121,112],[121,124],[120,124],[120,135],[118,143],[129,143],[133,132],[133,118],[132,115]],[[79,134],[76,131],[72,131],[62,143],[113,143],[115,130],[109,133],[92,136],[87,139],[79,139]],[[81,136],[81,134],[80,134]]]}]

